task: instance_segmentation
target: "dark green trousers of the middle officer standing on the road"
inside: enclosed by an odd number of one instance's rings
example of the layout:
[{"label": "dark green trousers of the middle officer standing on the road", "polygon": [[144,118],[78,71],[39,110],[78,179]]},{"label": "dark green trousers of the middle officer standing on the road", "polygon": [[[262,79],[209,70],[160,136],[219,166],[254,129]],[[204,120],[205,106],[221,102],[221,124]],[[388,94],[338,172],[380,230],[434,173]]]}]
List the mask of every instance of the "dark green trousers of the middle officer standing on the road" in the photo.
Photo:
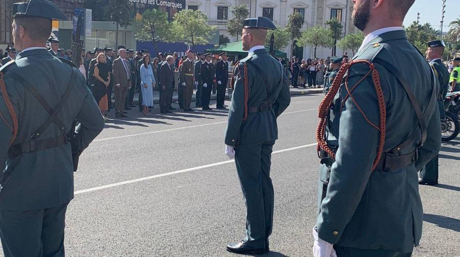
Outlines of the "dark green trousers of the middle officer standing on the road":
[{"label": "dark green trousers of the middle officer standing on the road", "polygon": [[257,248],[268,247],[273,226],[273,185],[270,179],[274,141],[240,144],[235,163],[246,203],[246,239]]}]

